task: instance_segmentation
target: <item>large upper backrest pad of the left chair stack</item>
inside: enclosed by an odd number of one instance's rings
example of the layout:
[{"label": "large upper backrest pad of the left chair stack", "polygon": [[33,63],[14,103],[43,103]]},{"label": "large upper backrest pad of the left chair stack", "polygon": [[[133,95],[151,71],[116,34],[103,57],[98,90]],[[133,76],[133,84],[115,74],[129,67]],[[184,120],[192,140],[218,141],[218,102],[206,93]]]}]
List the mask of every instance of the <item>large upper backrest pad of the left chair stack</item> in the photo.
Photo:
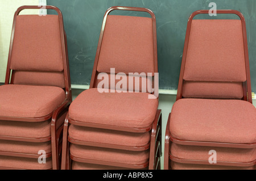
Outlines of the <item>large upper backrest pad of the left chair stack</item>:
[{"label": "large upper backrest pad of the left chair stack", "polygon": [[57,15],[19,15],[16,17],[11,69],[63,70]]}]

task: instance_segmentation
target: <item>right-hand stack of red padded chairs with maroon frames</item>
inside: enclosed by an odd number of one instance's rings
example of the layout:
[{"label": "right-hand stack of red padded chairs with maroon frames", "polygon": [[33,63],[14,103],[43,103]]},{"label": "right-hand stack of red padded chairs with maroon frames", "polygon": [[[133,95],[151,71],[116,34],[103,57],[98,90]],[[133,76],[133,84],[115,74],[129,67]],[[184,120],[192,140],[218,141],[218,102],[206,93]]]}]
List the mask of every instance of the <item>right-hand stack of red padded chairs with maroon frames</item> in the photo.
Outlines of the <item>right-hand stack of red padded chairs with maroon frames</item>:
[{"label": "right-hand stack of red padded chairs with maroon frames", "polygon": [[166,127],[164,169],[255,169],[245,19],[189,17],[176,102]]}]

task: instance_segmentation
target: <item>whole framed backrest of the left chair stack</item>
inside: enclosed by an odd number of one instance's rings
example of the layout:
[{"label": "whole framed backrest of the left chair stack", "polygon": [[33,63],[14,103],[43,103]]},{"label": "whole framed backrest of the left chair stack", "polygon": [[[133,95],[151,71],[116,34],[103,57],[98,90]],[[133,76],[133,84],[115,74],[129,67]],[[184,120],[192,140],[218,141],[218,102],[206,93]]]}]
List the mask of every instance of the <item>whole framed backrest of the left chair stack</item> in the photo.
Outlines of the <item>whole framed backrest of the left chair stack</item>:
[{"label": "whole framed backrest of the left chair stack", "polygon": [[40,9],[22,6],[14,15],[6,83],[22,85],[70,87],[67,41],[63,19],[57,15],[19,15],[23,9]]}]

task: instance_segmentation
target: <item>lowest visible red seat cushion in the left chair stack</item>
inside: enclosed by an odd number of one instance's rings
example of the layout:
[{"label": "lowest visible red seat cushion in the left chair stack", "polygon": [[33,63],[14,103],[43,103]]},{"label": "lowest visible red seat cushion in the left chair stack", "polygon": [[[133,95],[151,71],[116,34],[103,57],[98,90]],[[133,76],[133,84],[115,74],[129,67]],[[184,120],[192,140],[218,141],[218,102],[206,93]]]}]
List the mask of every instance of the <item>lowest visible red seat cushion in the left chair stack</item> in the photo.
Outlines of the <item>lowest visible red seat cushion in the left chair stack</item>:
[{"label": "lowest visible red seat cushion in the left chair stack", "polygon": [[0,155],[0,167],[26,170],[50,170],[52,158],[46,158],[46,163],[39,163],[37,158],[7,157]]}]

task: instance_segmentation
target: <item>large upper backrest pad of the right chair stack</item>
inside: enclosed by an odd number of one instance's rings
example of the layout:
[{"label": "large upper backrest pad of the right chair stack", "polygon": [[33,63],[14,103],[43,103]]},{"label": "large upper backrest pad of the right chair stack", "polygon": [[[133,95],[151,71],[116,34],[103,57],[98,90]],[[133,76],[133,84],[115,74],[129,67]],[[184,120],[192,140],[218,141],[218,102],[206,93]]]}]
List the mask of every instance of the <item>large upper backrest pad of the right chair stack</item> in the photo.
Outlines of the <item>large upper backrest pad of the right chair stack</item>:
[{"label": "large upper backrest pad of the right chair stack", "polygon": [[241,20],[192,20],[184,79],[246,81]]}]

